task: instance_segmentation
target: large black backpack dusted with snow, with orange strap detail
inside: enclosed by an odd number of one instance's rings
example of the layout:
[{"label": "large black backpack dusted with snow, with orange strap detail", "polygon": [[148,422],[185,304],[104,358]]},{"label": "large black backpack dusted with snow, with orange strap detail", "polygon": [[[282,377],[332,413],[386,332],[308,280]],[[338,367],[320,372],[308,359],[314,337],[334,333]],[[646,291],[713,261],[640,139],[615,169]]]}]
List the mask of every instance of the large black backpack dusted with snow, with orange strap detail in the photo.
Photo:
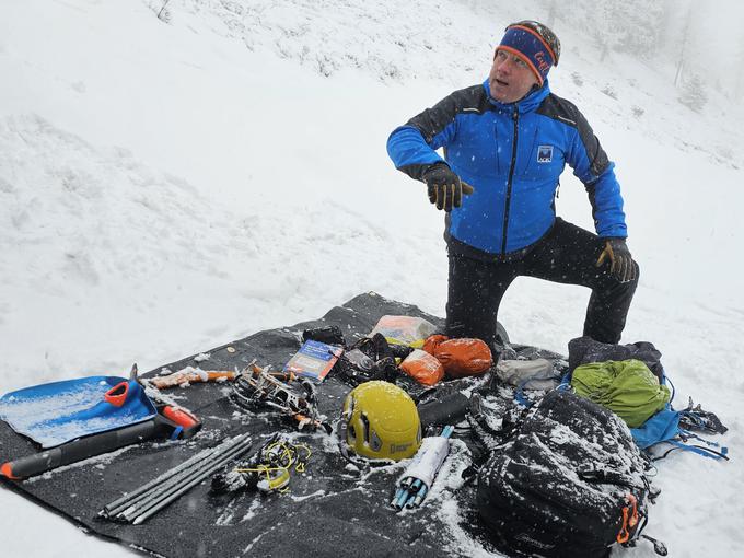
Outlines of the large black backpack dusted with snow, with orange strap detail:
[{"label": "large black backpack dusted with snow, with orange strap detail", "polygon": [[640,536],[644,470],[620,418],[557,390],[480,468],[476,503],[493,543],[511,556],[605,557]]}]

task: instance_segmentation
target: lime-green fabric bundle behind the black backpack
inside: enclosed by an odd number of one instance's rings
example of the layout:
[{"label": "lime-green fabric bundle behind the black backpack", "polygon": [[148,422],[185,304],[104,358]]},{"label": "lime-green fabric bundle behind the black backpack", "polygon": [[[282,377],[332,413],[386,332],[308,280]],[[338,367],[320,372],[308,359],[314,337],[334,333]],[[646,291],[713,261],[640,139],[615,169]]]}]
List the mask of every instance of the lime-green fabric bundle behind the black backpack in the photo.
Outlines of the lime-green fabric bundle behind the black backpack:
[{"label": "lime-green fabric bundle behind the black backpack", "polygon": [[576,393],[618,415],[638,428],[670,402],[661,385],[640,360],[593,362],[578,367],[571,376]]}]

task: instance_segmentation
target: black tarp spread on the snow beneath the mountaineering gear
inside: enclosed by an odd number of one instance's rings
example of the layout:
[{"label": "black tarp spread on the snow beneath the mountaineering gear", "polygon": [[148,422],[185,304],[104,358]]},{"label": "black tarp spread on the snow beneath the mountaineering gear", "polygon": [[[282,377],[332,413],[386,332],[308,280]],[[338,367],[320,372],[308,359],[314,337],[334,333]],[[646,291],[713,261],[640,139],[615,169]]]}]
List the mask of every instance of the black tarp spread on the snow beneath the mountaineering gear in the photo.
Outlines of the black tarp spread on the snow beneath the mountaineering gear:
[{"label": "black tarp spread on the snow beneath the mountaineering gear", "polygon": [[[197,363],[189,357],[167,368],[233,370],[256,360],[258,364],[280,369],[300,348],[303,329],[334,324],[350,342],[368,334],[385,314],[420,316],[442,325],[440,318],[416,306],[367,293],[332,309],[321,319],[260,332],[204,351],[209,354],[207,361]],[[328,417],[337,416],[349,390],[333,375],[326,379],[318,386],[319,410]],[[3,479],[3,483],[93,534],[161,556],[435,558],[467,556],[474,548],[488,547],[475,527],[473,487],[460,488],[462,483],[454,479],[446,498],[432,498],[415,512],[396,514],[388,502],[400,470],[383,469],[359,476],[336,450],[334,439],[322,433],[299,435],[314,453],[307,473],[292,476],[291,491],[287,495],[264,497],[242,492],[214,497],[205,483],[141,525],[118,524],[97,516],[104,504],[198,451],[216,445],[224,437],[251,432],[257,449],[268,434],[292,431],[293,427],[276,414],[240,409],[230,393],[229,386],[220,384],[198,384],[173,392],[182,397],[179,404],[204,421],[202,431],[190,441],[140,444],[26,481]],[[30,441],[0,423],[0,454],[5,460],[35,451]]]}]

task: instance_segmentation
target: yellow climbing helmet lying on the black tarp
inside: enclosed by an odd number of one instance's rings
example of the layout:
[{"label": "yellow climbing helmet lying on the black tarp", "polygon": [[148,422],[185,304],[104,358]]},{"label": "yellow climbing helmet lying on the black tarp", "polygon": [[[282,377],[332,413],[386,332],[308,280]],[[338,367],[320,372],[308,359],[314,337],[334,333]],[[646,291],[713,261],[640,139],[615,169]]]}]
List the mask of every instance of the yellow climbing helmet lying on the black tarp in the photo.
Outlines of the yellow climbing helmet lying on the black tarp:
[{"label": "yellow climbing helmet lying on the black tarp", "polygon": [[411,457],[421,445],[416,404],[390,382],[364,382],[346,396],[340,438],[361,457],[393,461]]}]

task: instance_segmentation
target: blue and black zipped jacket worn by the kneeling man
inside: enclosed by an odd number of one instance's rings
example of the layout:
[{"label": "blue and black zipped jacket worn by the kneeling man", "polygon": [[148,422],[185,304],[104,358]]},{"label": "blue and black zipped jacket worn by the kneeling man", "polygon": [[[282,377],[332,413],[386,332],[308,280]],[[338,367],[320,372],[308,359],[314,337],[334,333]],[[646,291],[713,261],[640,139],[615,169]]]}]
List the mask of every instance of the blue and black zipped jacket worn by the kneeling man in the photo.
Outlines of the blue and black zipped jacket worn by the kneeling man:
[{"label": "blue and black zipped jacket worn by the kneeling man", "polygon": [[396,128],[387,152],[416,179],[444,160],[475,193],[447,218],[450,251],[479,258],[521,252],[556,219],[558,181],[568,163],[584,184],[600,236],[626,237],[614,164],[579,109],[550,93],[547,80],[516,103],[489,94],[488,80],[455,91]]}]

